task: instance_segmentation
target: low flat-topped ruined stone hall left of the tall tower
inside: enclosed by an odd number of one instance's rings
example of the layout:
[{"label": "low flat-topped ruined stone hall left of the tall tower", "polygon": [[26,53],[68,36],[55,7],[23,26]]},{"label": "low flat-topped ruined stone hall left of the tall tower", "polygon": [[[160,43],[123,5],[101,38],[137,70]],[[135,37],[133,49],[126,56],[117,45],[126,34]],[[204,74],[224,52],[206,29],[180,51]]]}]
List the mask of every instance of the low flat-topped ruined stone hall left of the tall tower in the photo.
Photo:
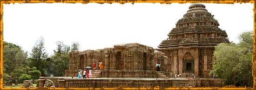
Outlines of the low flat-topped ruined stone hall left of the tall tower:
[{"label": "low flat-topped ruined stone hall left of the tall tower", "polygon": [[[103,62],[103,70],[98,73],[101,78],[166,78],[168,70],[167,57],[162,52],[139,43],[116,44],[114,48],[98,50],[72,51],[69,70],[66,77],[77,77],[78,70],[85,69],[96,62]],[[161,62],[161,72],[155,72],[155,64]]]}]

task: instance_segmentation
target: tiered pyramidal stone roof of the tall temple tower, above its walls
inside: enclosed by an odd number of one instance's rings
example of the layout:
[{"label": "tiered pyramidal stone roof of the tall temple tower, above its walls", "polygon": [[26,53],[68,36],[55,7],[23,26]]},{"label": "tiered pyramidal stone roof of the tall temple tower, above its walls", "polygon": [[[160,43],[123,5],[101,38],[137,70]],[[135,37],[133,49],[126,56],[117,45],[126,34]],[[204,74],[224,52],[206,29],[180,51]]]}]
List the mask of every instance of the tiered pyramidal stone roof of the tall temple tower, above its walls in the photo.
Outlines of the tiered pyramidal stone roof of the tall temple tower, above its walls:
[{"label": "tiered pyramidal stone roof of the tall temple tower, above its walls", "polygon": [[214,47],[222,42],[229,42],[224,30],[218,28],[219,23],[202,4],[189,6],[189,10],[176,27],[163,40],[160,49],[189,47]]}]

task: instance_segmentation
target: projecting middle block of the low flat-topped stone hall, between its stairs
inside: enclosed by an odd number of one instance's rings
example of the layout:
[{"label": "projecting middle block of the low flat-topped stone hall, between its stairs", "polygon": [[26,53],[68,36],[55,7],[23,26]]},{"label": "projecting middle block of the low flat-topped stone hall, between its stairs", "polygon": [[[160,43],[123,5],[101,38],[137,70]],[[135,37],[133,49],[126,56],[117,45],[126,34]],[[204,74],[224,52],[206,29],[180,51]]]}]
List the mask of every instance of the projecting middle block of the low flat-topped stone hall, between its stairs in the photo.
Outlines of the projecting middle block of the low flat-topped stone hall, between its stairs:
[{"label": "projecting middle block of the low flat-topped stone hall, between its stairs", "polygon": [[104,48],[104,70],[151,71],[154,49],[138,43],[117,44]]}]

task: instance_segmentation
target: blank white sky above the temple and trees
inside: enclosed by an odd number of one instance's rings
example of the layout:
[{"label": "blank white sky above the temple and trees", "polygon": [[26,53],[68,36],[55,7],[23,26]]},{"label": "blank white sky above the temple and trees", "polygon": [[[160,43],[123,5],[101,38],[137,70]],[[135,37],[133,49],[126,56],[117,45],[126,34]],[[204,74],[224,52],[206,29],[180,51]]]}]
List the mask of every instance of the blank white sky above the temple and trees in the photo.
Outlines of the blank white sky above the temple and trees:
[{"label": "blank white sky above the temple and trees", "polygon": [[[253,4],[202,3],[225,30],[230,42],[253,31]],[[3,5],[3,39],[31,53],[42,36],[49,55],[56,42],[80,43],[80,50],[140,43],[153,48],[168,38],[168,33],[189,10],[187,4],[113,3],[67,4],[34,3]]]}]

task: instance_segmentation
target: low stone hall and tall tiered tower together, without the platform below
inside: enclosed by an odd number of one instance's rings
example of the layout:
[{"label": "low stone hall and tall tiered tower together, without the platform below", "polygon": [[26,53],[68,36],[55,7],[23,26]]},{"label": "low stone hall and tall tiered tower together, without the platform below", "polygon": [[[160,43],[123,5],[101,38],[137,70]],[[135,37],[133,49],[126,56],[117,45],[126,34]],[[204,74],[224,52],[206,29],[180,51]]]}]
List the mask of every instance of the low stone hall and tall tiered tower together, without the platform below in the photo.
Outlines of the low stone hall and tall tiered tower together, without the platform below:
[{"label": "low stone hall and tall tiered tower together, without the platform below", "polygon": [[[98,50],[72,51],[70,54],[67,77],[77,76],[78,69],[85,69],[102,61],[104,69],[101,78],[156,78],[172,77],[209,77],[212,67],[214,48],[222,42],[229,42],[224,30],[218,28],[219,23],[213,18],[205,6],[193,4],[178,20],[176,27],[154,48],[139,43],[117,44],[114,48]],[[153,72],[155,64],[161,63],[161,72]],[[140,73],[146,73],[141,76]],[[160,77],[158,77],[160,78]]]}]

